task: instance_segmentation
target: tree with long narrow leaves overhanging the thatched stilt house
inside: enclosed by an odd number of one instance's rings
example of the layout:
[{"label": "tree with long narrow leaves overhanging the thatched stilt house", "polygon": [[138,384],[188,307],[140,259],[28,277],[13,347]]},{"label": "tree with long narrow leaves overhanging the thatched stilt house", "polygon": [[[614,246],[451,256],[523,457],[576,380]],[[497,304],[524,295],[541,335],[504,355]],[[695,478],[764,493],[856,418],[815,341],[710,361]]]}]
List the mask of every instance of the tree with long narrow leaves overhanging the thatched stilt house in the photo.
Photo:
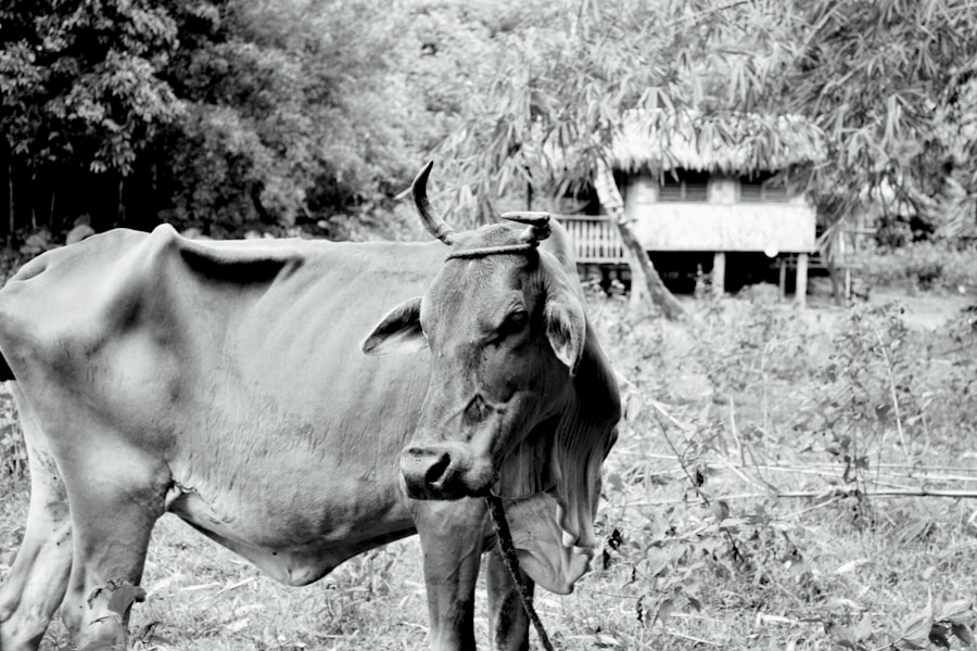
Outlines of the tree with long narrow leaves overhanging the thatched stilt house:
[{"label": "tree with long narrow leaves overhanging the thatched stilt house", "polygon": [[[965,0],[548,7],[533,7],[499,43],[499,73],[444,146],[462,167],[458,203],[470,213],[523,184],[562,195],[591,183],[612,159],[627,113],[658,110],[693,108],[707,142],[751,112],[820,127],[826,164],[792,181],[812,193],[828,234],[866,189],[887,184],[922,206],[948,168],[965,166],[957,176],[973,192],[974,103],[962,98],[972,97],[977,14]],[[776,131],[758,125],[753,145],[777,146]],[[965,146],[948,137],[966,132]],[[602,187],[612,212],[613,189]]]}]

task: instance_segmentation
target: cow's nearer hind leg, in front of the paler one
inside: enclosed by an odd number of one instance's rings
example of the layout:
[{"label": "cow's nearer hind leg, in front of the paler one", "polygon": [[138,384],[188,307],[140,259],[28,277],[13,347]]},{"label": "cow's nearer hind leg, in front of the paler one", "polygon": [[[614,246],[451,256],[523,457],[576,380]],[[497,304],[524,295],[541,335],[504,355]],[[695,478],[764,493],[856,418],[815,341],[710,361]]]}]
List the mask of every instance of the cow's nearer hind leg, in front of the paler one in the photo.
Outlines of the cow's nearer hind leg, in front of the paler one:
[{"label": "cow's nearer hind leg, in front of the paler one", "polygon": [[129,608],[142,600],[138,586],[169,481],[152,455],[123,436],[102,434],[62,463],[74,557],[61,614],[78,649],[126,648]]}]

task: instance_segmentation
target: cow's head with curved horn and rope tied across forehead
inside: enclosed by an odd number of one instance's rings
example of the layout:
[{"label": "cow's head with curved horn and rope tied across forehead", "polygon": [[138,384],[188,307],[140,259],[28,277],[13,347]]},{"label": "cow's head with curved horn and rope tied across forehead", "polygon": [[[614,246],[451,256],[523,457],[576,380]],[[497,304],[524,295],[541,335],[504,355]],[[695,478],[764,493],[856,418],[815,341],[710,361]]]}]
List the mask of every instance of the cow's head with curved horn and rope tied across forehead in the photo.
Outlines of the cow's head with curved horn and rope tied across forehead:
[{"label": "cow's head with curved horn and rope tied across forehead", "polygon": [[586,318],[571,278],[537,247],[550,234],[548,215],[508,214],[521,226],[455,231],[428,203],[430,170],[415,179],[414,199],[428,230],[449,245],[446,260],[424,295],[390,311],[363,349],[431,348],[427,397],[401,456],[408,495],[484,496],[531,429],[559,417]]}]

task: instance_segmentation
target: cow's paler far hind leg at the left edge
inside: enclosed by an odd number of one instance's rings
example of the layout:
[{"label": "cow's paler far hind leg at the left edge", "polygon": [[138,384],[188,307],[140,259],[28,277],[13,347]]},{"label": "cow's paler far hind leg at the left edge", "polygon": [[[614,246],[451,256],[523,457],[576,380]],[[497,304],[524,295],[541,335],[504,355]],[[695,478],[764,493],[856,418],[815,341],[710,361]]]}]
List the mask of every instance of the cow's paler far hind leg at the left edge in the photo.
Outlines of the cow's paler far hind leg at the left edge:
[{"label": "cow's paler far hind leg at the left edge", "polygon": [[72,567],[64,482],[29,405],[23,396],[17,401],[30,469],[30,503],[24,540],[0,587],[0,651],[37,649],[61,605]]}]

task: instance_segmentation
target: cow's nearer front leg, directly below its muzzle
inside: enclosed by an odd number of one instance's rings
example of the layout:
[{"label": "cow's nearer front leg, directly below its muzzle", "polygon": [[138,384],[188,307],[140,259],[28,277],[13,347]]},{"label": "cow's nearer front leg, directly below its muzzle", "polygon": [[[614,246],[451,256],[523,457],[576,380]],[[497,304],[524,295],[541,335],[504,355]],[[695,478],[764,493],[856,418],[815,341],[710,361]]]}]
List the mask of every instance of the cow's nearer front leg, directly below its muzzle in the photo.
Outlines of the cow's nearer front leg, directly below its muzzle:
[{"label": "cow's nearer front leg, directly below its muzzle", "polygon": [[424,554],[428,641],[433,651],[470,651],[487,510],[470,498],[415,502],[414,510]]}]

